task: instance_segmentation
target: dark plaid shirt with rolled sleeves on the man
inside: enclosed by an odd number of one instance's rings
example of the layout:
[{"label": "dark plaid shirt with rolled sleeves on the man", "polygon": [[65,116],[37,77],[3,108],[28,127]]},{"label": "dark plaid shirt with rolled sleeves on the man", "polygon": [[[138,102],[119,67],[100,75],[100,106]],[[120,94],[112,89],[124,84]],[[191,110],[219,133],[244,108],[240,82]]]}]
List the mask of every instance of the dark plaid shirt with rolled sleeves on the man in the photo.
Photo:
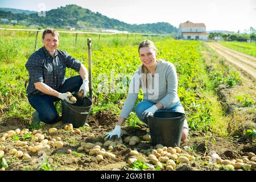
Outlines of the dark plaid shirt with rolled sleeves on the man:
[{"label": "dark plaid shirt with rolled sleeves on the man", "polygon": [[44,82],[52,89],[59,90],[65,81],[66,68],[72,68],[79,72],[81,62],[68,55],[65,51],[55,51],[52,57],[45,47],[32,53],[26,63],[29,73],[27,94],[43,94],[35,89],[35,82]]}]

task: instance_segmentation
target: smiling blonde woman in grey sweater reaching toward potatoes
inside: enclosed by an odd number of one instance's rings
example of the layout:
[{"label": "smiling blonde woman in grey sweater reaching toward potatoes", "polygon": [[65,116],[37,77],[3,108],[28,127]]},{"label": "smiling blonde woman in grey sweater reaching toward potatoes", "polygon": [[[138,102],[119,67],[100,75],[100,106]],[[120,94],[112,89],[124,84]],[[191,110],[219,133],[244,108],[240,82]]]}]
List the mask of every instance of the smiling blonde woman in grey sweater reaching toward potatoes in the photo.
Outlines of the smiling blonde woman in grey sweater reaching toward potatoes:
[{"label": "smiling blonde woman in grey sweater reaching toward potatoes", "polygon": [[[139,57],[142,66],[137,69],[129,85],[129,94],[121,111],[115,129],[105,135],[120,138],[121,125],[129,117],[135,105],[139,89],[143,91],[143,101],[135,108],[138,118],[147,124],[147,117],[157,110],[169,110],[184,113],[184,108],[177,95],[177,73],[174,64],[156,59],[157,49],[150,40],[139,44]],[[187,119],[184,121],[181,140],[188,136]]]}]

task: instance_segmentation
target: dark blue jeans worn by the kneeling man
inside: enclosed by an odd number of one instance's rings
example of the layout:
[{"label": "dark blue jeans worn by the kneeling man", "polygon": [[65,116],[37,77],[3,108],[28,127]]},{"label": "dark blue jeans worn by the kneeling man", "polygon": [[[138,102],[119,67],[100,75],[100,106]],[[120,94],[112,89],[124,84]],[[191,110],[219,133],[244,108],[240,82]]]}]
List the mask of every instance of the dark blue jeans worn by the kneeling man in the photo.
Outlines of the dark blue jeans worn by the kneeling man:
[{"label": "dark blue jeans worn by the kneeling man", "polygon": [[[57,90],[60,93],[66,92],[78,92],[82,85],[81,76],[74,76],[65,80],[64,84]],[[55,96],[49,95],[30,95],[28,96],[28,102],[30,105],[39,113],[39,118],[42,122],[51,124],[54,123],[58,117],[56,107],[53,102],[59,101],[60,99]]]}]

